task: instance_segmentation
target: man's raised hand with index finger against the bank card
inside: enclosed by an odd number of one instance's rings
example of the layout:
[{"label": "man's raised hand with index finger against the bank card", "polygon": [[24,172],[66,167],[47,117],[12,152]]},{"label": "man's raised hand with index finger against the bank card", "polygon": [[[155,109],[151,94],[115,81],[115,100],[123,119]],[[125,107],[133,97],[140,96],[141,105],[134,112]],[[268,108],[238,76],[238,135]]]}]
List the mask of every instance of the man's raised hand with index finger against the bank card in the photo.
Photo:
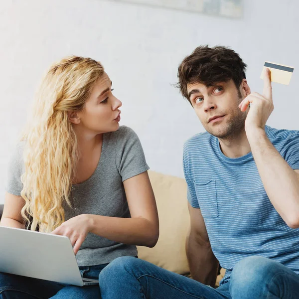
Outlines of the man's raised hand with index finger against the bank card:
[{"label": "man's raised hand with index finger against the bank card", "polygon": [[266,122],[274,109],[270,70],[268,68],[265,70],[263,95],[256,92],[251,93],[240,103],[240,110],[246,111],[249,104],[250,110],[245,120],[246,134],[256,131],[256,129],[265,130]]}]

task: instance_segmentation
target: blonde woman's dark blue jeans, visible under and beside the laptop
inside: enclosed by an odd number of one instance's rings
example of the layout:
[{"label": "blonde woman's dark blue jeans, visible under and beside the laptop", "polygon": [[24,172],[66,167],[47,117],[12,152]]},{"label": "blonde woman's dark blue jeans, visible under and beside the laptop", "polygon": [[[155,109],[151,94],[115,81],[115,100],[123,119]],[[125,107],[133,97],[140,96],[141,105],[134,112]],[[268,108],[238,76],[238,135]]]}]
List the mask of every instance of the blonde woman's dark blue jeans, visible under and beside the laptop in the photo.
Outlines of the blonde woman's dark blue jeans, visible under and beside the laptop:
[{"label": "blonde woman's dark blue jeans, visible under and beside the laptop", "polygon": [[[79,267],[82,277],[98,279],[105,265]],[[100,288],[76,287],[54,282],[0,273],[0,299],[99,299]]]}]

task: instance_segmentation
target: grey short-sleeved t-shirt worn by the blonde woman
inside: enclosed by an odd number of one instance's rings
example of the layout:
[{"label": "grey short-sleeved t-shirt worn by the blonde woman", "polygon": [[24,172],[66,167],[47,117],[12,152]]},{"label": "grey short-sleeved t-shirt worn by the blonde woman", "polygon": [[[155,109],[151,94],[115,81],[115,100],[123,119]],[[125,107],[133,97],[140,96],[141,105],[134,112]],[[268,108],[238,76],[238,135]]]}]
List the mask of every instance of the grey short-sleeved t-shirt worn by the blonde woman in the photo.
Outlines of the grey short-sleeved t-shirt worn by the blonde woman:
[{"label": "grey short-sleeved t-shirt worn by the blonde woman", "polygon": [[[17,196],[23,188],[23,147],[23,142],[17,145],[8,167],[6,191]],[[148,169],[140,140],[132,129],[121,126],[116,132],[105,133],[95,172],[86,181],[72,185],[72,208],[64,204],[65,220],[79,214],[130,218],[123,181]],[[137,256],[136,246],[89,233],[76,258],[79,266],[94,266],[121,256]]]}]

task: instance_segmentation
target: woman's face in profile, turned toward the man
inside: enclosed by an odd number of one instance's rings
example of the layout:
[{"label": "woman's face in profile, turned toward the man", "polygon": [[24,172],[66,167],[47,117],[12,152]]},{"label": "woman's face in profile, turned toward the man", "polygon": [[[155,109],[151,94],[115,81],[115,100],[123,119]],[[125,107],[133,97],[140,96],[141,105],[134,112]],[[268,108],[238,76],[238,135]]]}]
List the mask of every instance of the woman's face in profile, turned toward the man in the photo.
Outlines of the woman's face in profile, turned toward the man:
[{"label": "woman's face in profile, turned toward the man", "polygon": [[122,102],[112,94],[111,85],[106,73],[95,83],[84,109],[77,112],[81,129],[95,134],[118,130]]}]

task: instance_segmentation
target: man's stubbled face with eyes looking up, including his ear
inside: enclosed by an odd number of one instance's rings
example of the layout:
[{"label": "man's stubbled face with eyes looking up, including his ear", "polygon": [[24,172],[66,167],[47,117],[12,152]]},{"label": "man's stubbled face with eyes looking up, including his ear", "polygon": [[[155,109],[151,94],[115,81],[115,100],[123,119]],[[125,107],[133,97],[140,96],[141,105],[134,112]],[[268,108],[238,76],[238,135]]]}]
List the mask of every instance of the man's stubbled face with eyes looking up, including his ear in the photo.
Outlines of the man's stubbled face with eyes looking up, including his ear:
[{"label": "man's stubbled face with eyes looking up, including his ear", "polygon": [[229,80],[209,87],[202,83],[188,84],[187,91],[196,115],[211,135],[223,139],[244,128],[247,111],[241,112],[238,106],[250,94],[245,79],[239,90]]}]

